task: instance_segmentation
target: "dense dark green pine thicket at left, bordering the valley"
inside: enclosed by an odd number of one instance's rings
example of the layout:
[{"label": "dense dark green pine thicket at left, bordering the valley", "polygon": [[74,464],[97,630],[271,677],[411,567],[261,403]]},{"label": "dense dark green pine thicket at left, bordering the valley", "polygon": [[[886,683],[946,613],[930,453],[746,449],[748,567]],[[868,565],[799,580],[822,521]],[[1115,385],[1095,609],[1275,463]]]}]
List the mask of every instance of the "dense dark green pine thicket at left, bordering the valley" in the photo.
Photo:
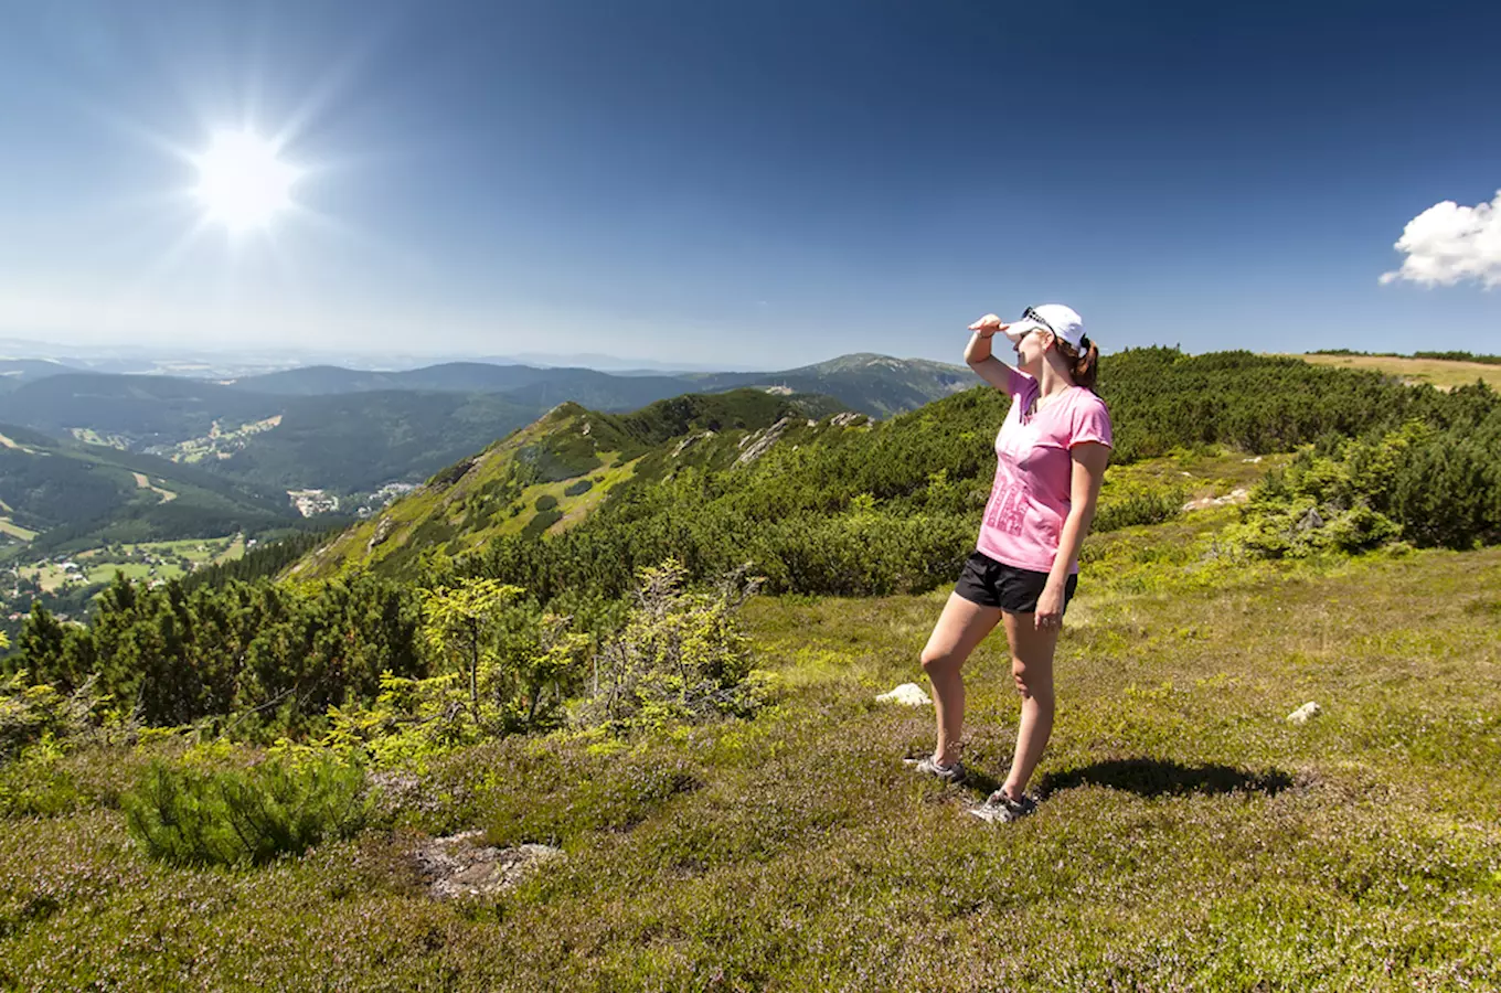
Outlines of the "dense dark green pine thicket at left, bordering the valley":
[{"label": "dense dark green pine thicket at left, bordering the valley", "polygon": [[89,627],[33,609],[17,656],[60,693],[98,680],[146,724],[255,711],[260,724],[305,730],[330,706],[374,699],[387,669],[426,675],[417,608],[410,585],[371,576],[191,591],[117,576]]}]

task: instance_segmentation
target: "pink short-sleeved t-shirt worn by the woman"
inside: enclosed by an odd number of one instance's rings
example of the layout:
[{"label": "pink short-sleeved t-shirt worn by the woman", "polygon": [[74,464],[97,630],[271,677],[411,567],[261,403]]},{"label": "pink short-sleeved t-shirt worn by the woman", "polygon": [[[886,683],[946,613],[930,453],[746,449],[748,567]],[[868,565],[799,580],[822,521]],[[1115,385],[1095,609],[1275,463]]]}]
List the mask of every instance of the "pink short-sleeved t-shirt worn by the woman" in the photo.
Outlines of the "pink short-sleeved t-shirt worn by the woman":
[{"label": "pink short-sleeved t-shirt worn by the woman", "polygon": [[[1073,502],[1069,448],[1084,441],[1111,444],[1111,414],[1093,390],[1076,386],[1024,417],[1039,386],[1016,369],[1007,393],[1012,410],[995,436],[995,483],[976,548],[998,562],[1045,573],[1052,570]],[[1072,572],[1079,572],[1078,562]]]}]

